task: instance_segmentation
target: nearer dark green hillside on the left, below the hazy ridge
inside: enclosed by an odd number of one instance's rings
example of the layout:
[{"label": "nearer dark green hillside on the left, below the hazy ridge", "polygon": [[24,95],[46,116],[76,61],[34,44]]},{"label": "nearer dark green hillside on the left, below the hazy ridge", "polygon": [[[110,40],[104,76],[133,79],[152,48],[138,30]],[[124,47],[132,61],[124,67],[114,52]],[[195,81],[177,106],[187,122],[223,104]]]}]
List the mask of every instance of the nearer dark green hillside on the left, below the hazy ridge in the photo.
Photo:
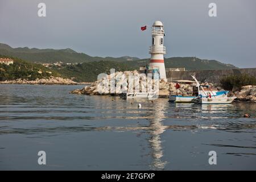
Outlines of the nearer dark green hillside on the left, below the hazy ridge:
[{"label": "nearer dark green hillside on the left, below the hazy ridge", "polygon": [[41,64],[30,63],[28,61],[2,56],[0,58],[10,58],[14,60],[14,64],[0,64],[0,81],[5,80],[36,80],[36,78],[49,78],[50,76],[71,78],[76,82],[92,82],[97,80],[100,73],[110,73],[111,68],[115,71],[134,70],[125,63],[115,61],[96,61],[82,64],[61,65],[52,68],[46,68]]}]

